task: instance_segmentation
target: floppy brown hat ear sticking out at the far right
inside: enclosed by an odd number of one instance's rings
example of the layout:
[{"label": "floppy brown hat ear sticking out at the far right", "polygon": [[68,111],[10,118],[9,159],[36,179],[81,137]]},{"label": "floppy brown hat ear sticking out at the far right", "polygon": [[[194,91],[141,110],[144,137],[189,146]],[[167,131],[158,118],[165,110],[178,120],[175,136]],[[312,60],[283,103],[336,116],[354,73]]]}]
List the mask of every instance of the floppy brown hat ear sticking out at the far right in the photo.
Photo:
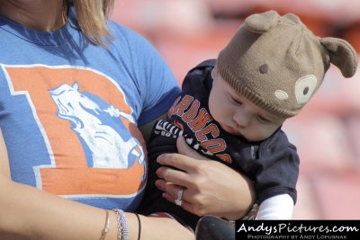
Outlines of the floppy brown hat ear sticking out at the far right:
[{"label": "floppy brown hat ear sticking out at the far right", "polygon": [[330,62],[340,69],[343,76],[355,75],[358,57],[350,43],[331,37],[320,39],[320,43],[328,49]]}]

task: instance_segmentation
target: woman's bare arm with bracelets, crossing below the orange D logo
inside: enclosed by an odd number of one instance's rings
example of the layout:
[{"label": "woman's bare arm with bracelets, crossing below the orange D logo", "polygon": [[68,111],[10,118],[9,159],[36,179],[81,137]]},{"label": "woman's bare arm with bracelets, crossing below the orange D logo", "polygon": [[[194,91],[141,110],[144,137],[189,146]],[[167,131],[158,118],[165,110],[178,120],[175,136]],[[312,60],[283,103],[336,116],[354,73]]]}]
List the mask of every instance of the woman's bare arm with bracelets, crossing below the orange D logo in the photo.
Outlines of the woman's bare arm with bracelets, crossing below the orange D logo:
[{"label": "woman's bare arm with bracelets, crossing below the orange D logo", "polygon": [[[100,239],[105,210],[46,191],[13,182],[0,131],[0,239]],[[117,239],[115,213],[109,211],[110,231],[105,239]],[[127,213],[130,239],[138,239],[138,220]],[[193,234],[169,218],[140,216],[141,239],[193,239]],[[172,229],[172,231],[168,231]]]}]

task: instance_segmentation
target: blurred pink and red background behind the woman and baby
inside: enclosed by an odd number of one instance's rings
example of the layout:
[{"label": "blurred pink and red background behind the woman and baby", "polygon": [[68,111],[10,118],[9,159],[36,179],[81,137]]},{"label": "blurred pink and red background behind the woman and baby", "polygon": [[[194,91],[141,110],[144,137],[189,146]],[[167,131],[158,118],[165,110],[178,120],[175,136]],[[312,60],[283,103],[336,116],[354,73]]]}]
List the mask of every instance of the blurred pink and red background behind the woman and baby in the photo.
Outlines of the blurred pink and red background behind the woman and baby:
[{"label": "blurred pink and red background behind the woman and baby", "polygon": [[[296,13],[316,35],[360,52],[358,0],[117,0],[112,20],[159,50],[181,84],[187,71],[216,58],[251,13]],[[360,73],[330,67],[318,93],[284,130],[298,147],[301,174],[294,219],[360,219]]]}]

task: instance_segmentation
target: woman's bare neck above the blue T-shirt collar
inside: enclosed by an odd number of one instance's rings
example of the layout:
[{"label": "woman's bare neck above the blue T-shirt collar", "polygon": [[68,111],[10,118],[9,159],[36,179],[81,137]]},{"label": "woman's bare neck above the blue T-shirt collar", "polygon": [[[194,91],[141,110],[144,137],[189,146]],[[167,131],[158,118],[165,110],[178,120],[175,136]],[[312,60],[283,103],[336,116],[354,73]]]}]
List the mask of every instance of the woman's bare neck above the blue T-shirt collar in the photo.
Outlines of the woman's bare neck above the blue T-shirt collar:
[{"label": "woman's bare neck above the blue T-shirt collar", "polygon": [[39,31],[55,31],[67,22],[63,0],[1,0],[0,15]]}]

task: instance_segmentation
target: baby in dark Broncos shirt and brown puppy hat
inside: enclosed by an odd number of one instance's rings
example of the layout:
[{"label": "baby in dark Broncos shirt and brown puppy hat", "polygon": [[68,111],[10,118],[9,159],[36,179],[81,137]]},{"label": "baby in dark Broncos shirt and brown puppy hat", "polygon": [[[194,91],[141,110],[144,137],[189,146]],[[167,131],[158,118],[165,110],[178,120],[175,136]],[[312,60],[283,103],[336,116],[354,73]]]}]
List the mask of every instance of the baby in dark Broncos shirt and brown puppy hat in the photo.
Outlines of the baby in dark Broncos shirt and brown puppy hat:
[{"label": "baby in dark Broncos shirt and brown puppy hat", "polygon": [[200,217],[181,208],[186,190],[179,191],[176,206],[154,185],[157,156],[176,152],[175,138],[184,136],[202,155],[253,180],[257,218],[292,218],[299,157],[281,127],[309,102],[330,63],[353,76],[355,49],[345,40],[315,36],[292,13],[248,16],[216,60],[187,74],[168,120],[157,122],[148,145],[143,213],[166,212],[196,226]]}]

